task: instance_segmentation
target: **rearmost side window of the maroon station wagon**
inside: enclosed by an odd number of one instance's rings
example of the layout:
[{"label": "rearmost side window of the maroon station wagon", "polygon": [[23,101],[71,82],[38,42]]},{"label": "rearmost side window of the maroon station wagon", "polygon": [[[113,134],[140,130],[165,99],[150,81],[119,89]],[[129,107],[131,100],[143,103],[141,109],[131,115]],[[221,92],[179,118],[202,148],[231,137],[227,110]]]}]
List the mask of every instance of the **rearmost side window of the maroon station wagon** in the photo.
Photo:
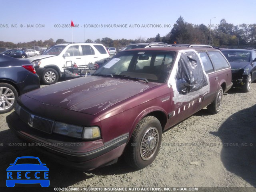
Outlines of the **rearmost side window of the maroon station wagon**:
[{"label": "rearmost side window of the maroon station wagon", "polygon": [[210,58],[215,66],[216,70],[229,68],[229,64],[224,56],[218,51],[208,51]]}]

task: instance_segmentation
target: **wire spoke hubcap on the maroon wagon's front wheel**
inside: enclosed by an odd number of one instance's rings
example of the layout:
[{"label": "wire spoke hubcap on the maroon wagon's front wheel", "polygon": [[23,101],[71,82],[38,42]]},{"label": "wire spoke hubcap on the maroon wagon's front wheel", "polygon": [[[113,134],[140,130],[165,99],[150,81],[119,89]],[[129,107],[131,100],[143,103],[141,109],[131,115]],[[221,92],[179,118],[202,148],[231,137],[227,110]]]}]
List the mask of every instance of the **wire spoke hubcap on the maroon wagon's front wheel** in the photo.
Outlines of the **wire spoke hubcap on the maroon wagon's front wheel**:
[{"label": "wire spoke hubcap on the maroon wagon's front wheel", "polygon": [[148,128],[140,142],[140,156],[143,160],[149,160],[155,154],[158,141],[158,130],[155,127]]}]

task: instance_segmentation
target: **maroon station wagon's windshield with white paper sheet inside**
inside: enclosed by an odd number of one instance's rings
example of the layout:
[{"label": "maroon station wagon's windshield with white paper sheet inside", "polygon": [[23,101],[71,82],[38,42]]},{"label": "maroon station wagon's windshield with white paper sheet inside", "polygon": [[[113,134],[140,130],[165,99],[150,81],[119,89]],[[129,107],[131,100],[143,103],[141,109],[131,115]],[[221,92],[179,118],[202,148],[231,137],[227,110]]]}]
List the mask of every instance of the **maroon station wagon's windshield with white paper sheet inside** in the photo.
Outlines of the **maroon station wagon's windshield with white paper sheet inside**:
[{"label": "maroon station wagon's windshield with white paper sheet inside", "polygon": [[175,52],[129,51],[120,52],[92,75],[116,78],[140,78],[164,83],[169,74]]}]

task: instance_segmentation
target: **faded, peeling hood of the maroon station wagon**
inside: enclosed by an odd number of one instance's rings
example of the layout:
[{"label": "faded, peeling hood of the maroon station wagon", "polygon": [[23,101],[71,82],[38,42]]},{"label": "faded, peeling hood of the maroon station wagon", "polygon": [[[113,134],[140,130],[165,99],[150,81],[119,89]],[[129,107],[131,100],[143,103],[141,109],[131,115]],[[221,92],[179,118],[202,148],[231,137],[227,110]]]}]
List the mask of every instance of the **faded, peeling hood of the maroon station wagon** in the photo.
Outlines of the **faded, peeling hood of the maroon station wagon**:
[{"label": "faded, peeling hood of the maroon station wagon", "polygon": [[129,97],[160,85],[98,76],[46,86],[25,95],[44,104],[95,115]]}]

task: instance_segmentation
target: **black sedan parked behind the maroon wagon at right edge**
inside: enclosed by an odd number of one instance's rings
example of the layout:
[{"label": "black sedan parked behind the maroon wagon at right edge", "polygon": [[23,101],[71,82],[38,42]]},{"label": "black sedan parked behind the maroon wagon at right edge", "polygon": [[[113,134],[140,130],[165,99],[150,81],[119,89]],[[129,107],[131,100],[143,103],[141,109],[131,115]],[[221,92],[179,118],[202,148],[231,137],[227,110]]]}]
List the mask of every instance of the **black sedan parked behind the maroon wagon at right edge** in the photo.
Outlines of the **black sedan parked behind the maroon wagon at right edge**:
[{"label": "black sedan parked behind the maroon wagon at right edge", "polygon": [[256,80],[256,52],[246,49],[221,50],[228,59],[232,70],[232,82],[236,88],[248,92],[251,82]]}]

